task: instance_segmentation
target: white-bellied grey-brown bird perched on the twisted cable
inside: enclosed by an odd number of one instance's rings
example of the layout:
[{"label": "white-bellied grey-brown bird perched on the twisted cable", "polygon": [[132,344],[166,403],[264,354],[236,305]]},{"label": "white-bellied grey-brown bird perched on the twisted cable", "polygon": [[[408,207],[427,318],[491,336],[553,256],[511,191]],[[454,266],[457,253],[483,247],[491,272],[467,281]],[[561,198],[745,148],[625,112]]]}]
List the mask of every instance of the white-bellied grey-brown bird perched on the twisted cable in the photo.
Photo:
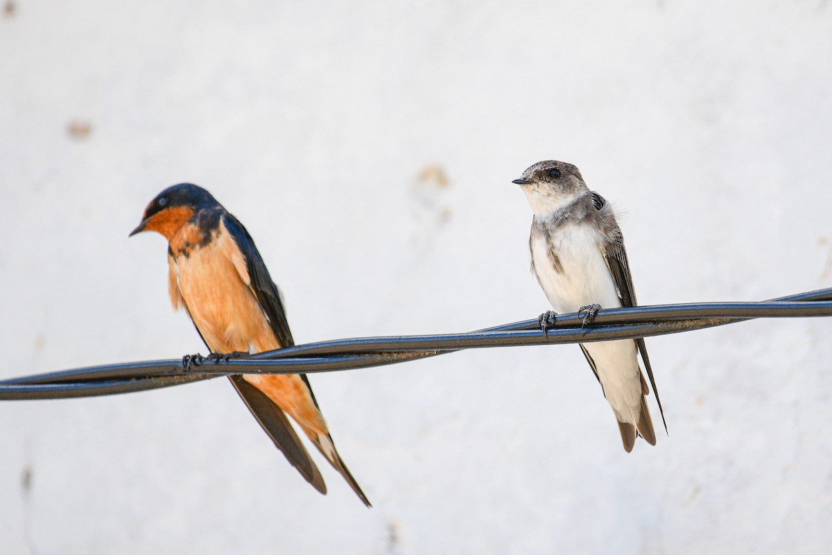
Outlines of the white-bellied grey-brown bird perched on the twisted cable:
[{"label": "white-bellied grey-brown bird perched on the twisted cable", "polygon": [[[532,270],[555,311],[586,314],[586,324],[601,306],[636,306],[624,238],[615,213],[601,195],[589,190],[577,167],[553,160],[537,162],[513,183],[522,186],[534,212],[529,237]],[[541,316],[544,331],[553,315]],[[616,415],[626,452],[632,450],[636,435],[655,445],[656,433],[645,399],[650,389],[641,374],[636,351],[641,352],[662,423],[665,415],[644,339],[580,346]]]}]

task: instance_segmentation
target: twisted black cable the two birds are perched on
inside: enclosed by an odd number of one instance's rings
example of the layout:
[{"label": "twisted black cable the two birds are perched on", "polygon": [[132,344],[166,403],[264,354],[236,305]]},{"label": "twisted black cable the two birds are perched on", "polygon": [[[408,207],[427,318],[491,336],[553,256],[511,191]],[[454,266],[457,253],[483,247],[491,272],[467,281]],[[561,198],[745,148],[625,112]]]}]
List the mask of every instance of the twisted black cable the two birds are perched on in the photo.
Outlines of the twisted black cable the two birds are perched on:
[{"label": "twisted black cable the two birds are perched on", "polygon": [[585,327],[577,313],[557,315],[546,333],[535,318],[466,334],[334,339],[251,354],[245,358],[191,356],[179,360],[106,364],[0,380],[0,400],[70,399],[131,393],[229,374],[314,374],[398,364],[463,349],[635,339],[703,330],[755,318],[816,316],[832,316],[832,289],[762,302],[602,309],[592,324]]}]

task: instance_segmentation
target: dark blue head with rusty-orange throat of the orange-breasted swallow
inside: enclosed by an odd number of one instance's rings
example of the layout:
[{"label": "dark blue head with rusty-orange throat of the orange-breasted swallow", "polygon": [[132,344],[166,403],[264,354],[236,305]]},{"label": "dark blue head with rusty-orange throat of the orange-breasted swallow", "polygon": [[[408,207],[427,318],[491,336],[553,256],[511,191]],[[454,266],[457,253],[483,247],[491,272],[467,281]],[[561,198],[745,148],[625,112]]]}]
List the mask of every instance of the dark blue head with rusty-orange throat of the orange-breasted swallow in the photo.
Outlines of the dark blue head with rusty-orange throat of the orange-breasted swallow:
[{"label": "dark blue head with rusty-orange throat of the orange-breasted swallow", "polygon": [[157,231],[171,240],[176,231],[203,208],[218,206],[214,197],[200,186],[180,183],[161,191],[141,216],[141,224],[131,236],[142,231]]}]

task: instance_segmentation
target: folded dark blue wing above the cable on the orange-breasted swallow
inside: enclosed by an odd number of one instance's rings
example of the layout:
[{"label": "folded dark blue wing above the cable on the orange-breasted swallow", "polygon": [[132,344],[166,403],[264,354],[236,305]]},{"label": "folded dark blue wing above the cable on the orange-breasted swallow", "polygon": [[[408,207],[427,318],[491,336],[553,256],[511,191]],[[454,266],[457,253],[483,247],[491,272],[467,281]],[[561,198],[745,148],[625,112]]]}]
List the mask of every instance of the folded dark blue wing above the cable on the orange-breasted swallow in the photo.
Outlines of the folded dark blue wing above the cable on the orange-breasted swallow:
[{"label": "folded dark blue wing above the cable on the orange-breasted swallow", "polygon": [[260,252],[257,251],[254,240],[249,232],[234,216],[226,213],[223,217],[225,229],[228,230],[240,252],[245,258],[245,267],[249,271],[251,290],[254,291],[260,308],[269,319],[271,330],[280,342],[280,347],[291,347],[295,344],[292,339],[292,332],[289,329],[289,321],[286,320],[286,313],[283,310],[283,300],[280,299],[280,291],[275,282],[271,280],[269,270],[266,269]]}]

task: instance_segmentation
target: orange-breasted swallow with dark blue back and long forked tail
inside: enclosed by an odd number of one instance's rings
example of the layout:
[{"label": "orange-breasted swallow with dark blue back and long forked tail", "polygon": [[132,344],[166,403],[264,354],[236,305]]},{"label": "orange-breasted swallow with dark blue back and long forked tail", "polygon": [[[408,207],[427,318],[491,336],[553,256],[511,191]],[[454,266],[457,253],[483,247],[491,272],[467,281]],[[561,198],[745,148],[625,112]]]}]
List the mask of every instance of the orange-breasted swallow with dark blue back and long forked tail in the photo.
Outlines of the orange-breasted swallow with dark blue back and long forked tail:
[{"label": "orange-breasted swallow with dark blue back and long forked tail", "polygon": [[[214,354],[260,353],[295,344],[283,299],[248,231],[205,189],[181,183],[161,191],[130,235],[157,231],[168,241],[168,291]],[[289,462],[326,493],[289,414],[368,507],[335,449],[305,374],[229,376],[255,419]]]}]

